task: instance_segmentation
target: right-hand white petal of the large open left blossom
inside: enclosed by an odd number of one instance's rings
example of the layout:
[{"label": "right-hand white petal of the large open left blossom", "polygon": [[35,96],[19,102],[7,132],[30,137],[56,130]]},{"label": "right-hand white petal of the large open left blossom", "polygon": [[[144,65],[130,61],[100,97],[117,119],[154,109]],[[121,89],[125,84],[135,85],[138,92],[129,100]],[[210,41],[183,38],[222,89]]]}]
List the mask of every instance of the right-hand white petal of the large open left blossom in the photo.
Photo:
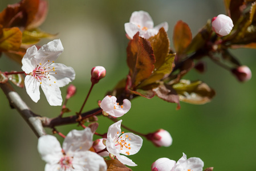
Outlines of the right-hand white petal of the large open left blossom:
[{"label": "right-hand white petal of the large open left blossom", "polygon": [[64,87],[75,79],[75,71],[72,67],[61,63],[52,63],[50,66],[55,68],[55,71],[51,71],[50,74],[57,80],[58,87]]}]

